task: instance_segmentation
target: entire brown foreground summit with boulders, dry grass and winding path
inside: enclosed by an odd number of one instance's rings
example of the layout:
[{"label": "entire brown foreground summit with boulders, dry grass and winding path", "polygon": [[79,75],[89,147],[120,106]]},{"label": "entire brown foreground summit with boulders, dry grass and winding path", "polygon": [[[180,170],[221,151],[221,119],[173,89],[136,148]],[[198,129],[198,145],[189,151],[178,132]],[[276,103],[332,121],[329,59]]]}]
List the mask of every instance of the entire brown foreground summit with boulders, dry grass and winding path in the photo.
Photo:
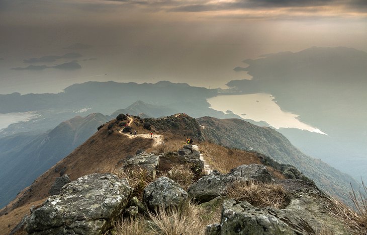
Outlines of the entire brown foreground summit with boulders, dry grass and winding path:
[{"label": "entire brown foreground summit with boulders, dry grass and winding path", "polygon": [[[21,192],[0,217],[8,220],[1,221],[18,219],[18,225],[9,226],[11,234],[361,231],[342,217],[347,207],[292,165],[205,141],[195,119],[185,114],[148,121],[119,115],[101,126]],[[137,134],[125,134],[123,122]],[[164,129],[164,123],[173,129]],[[195,145],[186,144],[189,134],[198,137]]]}]

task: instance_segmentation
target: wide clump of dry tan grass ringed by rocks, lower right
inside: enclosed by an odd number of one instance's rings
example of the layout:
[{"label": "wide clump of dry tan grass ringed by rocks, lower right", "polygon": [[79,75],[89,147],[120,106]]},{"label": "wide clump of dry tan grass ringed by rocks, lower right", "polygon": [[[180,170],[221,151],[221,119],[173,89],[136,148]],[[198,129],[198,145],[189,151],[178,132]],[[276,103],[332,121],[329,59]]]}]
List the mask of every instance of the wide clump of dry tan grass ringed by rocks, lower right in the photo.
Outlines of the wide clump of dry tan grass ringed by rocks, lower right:
[{"label": "wide clump of dry tan grass ringed by rocks, lower right", "polygon": [[283,208],[289,197],[281,185],[263,184],[255,181],[235,181],[226,188],[226,195],[246,200],[256,207]]}]

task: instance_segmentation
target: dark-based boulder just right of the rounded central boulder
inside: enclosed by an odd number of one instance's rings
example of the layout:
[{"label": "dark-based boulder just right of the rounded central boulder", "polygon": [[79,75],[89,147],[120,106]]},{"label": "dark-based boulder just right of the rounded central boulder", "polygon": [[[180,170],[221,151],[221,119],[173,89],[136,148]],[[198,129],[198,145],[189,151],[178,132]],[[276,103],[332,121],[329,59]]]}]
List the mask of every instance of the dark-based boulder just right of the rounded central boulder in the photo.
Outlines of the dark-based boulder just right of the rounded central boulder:
[{"label": "dark-based boulder just right of the rounded central boulder", "polygon": [[[192,184],[188,189],[188,193],[190,197],[195,198],[199,202],[207,202],[215,197],[223,196],[227,185],[237,179],[239,177],[222,175],[214,170],[210,175],[204,176]],[[244,178],[242,177],[242,179]]]}]

